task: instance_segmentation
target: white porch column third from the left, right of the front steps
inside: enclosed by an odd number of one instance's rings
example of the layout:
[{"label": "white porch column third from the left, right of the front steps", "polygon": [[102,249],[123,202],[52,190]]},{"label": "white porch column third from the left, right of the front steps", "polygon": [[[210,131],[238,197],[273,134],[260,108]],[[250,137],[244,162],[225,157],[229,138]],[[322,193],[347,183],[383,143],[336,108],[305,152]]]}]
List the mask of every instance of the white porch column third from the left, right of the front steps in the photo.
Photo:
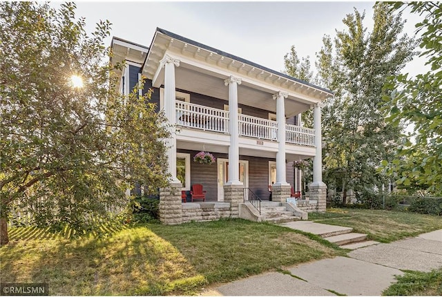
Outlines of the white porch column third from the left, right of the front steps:
[{"label": "white porch column third from the left, right of the front steps", "polygon": [[285,102],[289,94],[278,92],[273,95],[276,99],[276,121],[278,122],[278,153],[276,153],[276,185],[287,186],[285,169]]}]

